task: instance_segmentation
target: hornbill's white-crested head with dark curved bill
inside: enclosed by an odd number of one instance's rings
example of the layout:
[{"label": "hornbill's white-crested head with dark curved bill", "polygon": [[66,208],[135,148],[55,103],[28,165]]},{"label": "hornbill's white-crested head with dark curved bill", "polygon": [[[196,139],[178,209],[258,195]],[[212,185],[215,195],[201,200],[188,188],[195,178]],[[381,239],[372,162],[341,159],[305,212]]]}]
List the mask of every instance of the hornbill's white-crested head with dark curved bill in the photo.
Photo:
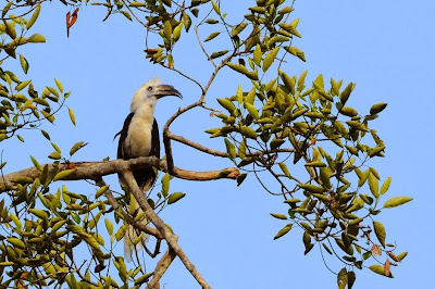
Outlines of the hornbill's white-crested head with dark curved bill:
[{"label": "hornbill's white-crested head with dark curved bill", "polygon": [[183,98],[182,93],[173,86],[162,85],[160,79],[154,77],[145,83],[133,96],[130,110],[136,112],[142,105],[149,105],[154,109],[157,100],[167,96]]}]

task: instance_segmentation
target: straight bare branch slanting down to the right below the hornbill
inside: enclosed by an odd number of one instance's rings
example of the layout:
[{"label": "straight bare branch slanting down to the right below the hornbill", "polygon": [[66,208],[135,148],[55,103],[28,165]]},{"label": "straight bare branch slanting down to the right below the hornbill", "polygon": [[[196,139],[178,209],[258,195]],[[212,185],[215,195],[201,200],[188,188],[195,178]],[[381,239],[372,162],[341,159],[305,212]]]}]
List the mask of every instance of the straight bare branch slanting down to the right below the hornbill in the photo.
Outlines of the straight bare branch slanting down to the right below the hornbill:
[{"label": "straight bare branch slanting down to the right below the hornbill", "polygon": [[163,235],[163,238],[166,240],[167,246],[174,251],[174,253],[179,257],[186,268],[190,272],[190,274],[195,277],[195,279],[201,285],[202,288],[211,288],[210,285],[206,282],[202,278],[201,274],[197,271],[195,265],[189,261],[187,255],[184,253],[182,248],[177,243],[177,237],[171,233],[171,230],[166,227],[164,222],[152,210],[151,205],[147,201],[147,197],[139,189],[136,184],[136,180],[133,176],[133,173],[129,171],[128,166],[124,166],[121,169],[121,174],[129,190],[135,196],[136,201],[140,205],[140,209],[145,212],[147,218],[156,226],[156,228]]}]

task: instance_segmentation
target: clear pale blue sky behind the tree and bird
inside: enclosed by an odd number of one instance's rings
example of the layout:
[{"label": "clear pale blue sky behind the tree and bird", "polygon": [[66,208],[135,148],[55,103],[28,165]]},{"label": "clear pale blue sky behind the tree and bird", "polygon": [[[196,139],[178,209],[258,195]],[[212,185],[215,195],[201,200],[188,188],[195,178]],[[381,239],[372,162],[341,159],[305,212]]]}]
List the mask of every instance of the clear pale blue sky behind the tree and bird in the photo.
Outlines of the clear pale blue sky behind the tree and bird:
[{"label": "clear pale blue sky behind the tree and bird", "polygon": [[[223,1],[222,9],[245,14],[238,5]],[[358,271],[353,288],[431,288],[435,273],[430,265],[435,257],[431,250],[435,202],[431,184],[435,3],[308,0],[296,1],[295,8],[294,16],[301,18],[298,30],[302,39],[294,45],[304,51],[307,63],[291,59],[285,71],[298,75],[308,70],[310,80],[322,73],[325,79],[357,83],[349,104],[361,111],[369,111],[373,103],[387,102],[387,109],[373,123],[387,146],[386,158],[372,165],[383,178],[391,176],[389,197],[414,198],[403,206],[383,211],[377,218],[385,225],[389,241],[397,242],[398,252],[409,251],[402,264],[393,267],[395,278],[384,278],[369,269]],[[30,63],[28,77],[35,86],[53,85],[57,77],[65,90],[73,91],[67,105],[74,109],[77,127],[71,125],[64,110],[58,116],[59,122],[46,128],[65,151],[79,140],[89,142],[75,155],[75,161],[115,158],[116,141],[112,139],[128,114],[130,98],[154,75],[184,95],[182,102],[167,98],[159,103],[157,118],[161,124],[178,106],[195,101],[199,92],[178,75],[145,59],[145,32],[139,24],[129,23],[122,15],[102,23],[103,10],[82,7],[78,21],[66,38],[64,18],[69,10],[57,3],[45,4],[33,30],[44,34],[47,43],[23,49]],[[175,55],[175,65],[179,64],[203,83],[211,66],[199,48],[188,43],[181,43],[181,48],[183,52]],[[236,91],[240,78],[231,73],[227,70],[216,79],[208,104],[216,106],[214,98]],[[196,111],[181,117],[173,131],[224,150],[222,140],[210,140],[202,133],[217,125],[207,112]],[[25,143],[1,143],[3,158],[9,159],[9,172],[32,166],[29,154],[40,162],[48,161],[46,158],[52,151],[39,134],[28,131],[23,136]],[[202,156],[181,144],[174,144],[174,158],[177,166],[188,169],[232,166],[227,160]],[[115,177],[107,180],[117,186]],[[300,230],[273,241],[284,224],[270,213],[284,211],[285,206],[263,191],[253,176],[241,187],[229,180],[173,180],[171,186],[172,191],[184,191],[187,196],[165,210],[162,217],[174,228],[182,248],[213,288],[336,287],[336,276],[326,269],[319,250],[303,255]],[[69,187],[80,193],[94,193],[85,183]],[[338,271],[339,264],[331,261]],[[166,289],[198,288],[178,261],[170,267],[163,284]]]}]

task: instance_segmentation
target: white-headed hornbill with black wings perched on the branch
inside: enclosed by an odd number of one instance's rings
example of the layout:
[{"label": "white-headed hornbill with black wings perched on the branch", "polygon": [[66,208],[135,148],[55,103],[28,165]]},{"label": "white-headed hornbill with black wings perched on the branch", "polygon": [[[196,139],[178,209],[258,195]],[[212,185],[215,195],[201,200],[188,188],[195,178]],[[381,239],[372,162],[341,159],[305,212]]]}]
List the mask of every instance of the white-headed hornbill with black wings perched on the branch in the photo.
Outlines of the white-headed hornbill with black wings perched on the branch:
[{"label": "white-headed hornbill with black wings perched on the branch", "polygon": [[[182,93],[173,86],[161,85],[159,78],[153,78],[144,84],[133,96],[130,113],[124,121],[124,126],[120,133],[120,141],[117,144],[117,159],[129,160],[139,156],[156,155],[160,159],[160,139],[159,127],[154,118],[154,109],[157,100],[166,96],[175,96],[183,98]],[[152,167],[136,169],[133,172],[137,185],[144,193],[154,185],[157,174]],[[127,190],[127,186],[120,178],[121,186]],[[136,199],[130,194],[129,212],[140,213]],[[147,219],[144,217],[146,224]],[[142,242],[135,246],[133,241],[138,237],[133,226],[124,236],[124,256],[127,261],[132,260],[134,250],[142,248]],[[147,241],[148,236],[144,235],[142,241]]]}]

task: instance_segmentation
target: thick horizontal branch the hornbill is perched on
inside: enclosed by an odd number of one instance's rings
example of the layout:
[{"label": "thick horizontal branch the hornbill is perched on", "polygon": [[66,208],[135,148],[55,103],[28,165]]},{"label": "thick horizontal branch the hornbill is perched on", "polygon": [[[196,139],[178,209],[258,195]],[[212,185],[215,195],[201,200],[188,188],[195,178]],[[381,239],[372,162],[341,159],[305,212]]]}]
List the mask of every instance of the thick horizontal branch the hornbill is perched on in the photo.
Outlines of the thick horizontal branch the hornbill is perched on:
[{"label": "thick horizontal branch the hornbill is perched on", "polygon": [[[47,164],[49,169],[53,168],[51,164]],[[44,166],[44,165],[42,165]],[[78,180],[78,179],[99,179],[102,176],[121,173],[121,167],[127,166],[128,169],[138,169],[146,167],[157,167],[163,172],[167,172],[166,161],[156,156],[137,158],[128,161],[115,160],[110,162],[83,162],[83,163],[62,163],[58,165],[59,172],[65,169],[75,171],[62,178],[62,180]],[[219,171],[210,172],[194,172],[174,167],[172,175],[187,180],[212,180],[220,178],[236,179],[239,171],[236,167],[227,167]],[[0,178],[0,192],[16,188],[16,183],[30,183],[40,176],[40,172],[36,167],[25,168],[2,176]]]}]

